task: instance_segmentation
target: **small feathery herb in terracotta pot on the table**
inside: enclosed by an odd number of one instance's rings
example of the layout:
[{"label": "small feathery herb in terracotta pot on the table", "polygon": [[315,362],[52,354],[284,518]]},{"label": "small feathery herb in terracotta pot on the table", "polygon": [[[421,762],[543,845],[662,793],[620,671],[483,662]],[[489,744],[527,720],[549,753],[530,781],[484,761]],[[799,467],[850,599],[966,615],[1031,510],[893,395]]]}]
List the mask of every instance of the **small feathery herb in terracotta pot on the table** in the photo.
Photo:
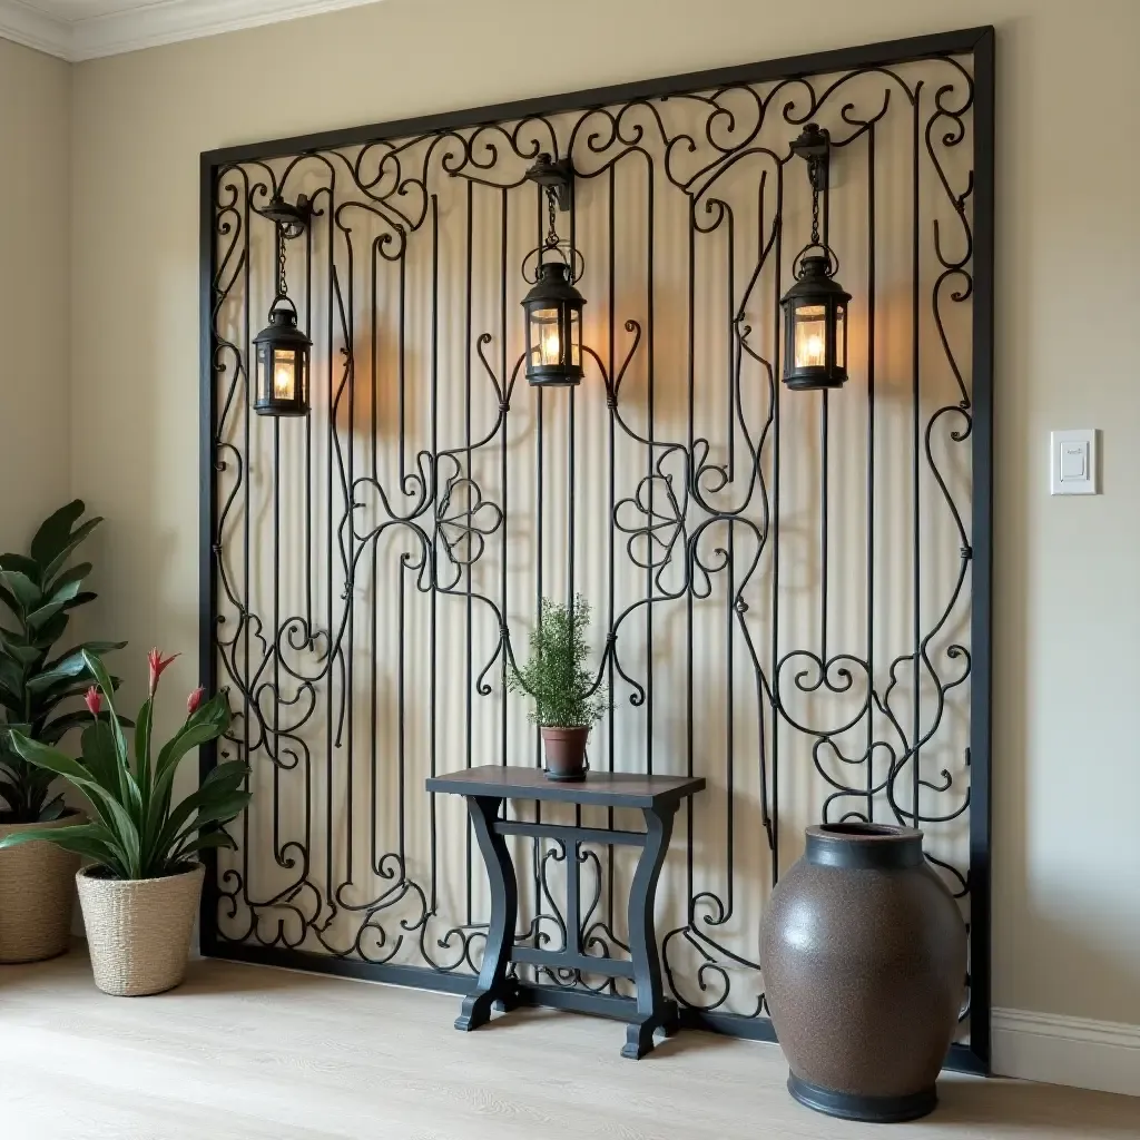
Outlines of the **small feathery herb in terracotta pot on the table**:
[{"label": "small feathery herb in terracotta pot on the table", "polygon": [[543,734],[546,775],[585,780],[589,730],[609,708],[604,691],[586,668],[589,603],[580,594],[573,605],[543,598],[538,625],[530,633],[530,659],[507,674],[512,692],[535,705],[530,719]]}]

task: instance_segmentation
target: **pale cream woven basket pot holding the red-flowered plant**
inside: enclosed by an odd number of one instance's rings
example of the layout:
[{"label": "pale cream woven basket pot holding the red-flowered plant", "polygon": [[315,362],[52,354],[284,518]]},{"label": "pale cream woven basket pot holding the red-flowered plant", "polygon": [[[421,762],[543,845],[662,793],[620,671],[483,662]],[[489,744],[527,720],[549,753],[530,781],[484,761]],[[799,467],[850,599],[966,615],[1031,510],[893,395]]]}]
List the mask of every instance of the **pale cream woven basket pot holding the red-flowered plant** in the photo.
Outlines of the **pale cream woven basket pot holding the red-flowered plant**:
[{"label": "pale cream woven basket pot holding the red-flowered plant", "polygon": [[164,879],[101,879],[91,870],[75,879],[95,984],[116,997],[173,990],[186,976],[205,869],[196,863]]}]

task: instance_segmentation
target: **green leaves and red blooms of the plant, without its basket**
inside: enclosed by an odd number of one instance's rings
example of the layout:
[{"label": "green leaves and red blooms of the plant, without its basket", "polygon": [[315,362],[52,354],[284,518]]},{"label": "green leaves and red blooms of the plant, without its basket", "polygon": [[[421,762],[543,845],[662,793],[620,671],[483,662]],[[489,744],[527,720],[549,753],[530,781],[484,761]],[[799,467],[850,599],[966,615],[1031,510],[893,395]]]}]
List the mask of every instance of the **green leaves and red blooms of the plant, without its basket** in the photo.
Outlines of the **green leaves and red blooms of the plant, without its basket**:
[{"label": "green leaves and red blooms of the plant, without its basket", "polygon": [[241,760],[219,764],[196,791],[171,805],[174,773],[181,759],[229,727],[226,697],[219,693],[202,703],[201,689],[190,693],[186,722],[155,757],[150,743],[154,699],[158,678],[174,658],[150,651],[149,695],[139,711],[132,746],[123,733],[114,706],[114,685],[103,662],[85,651],[83,659],[96,685],[85,698],[91,720],[83,732],[82,759],[74,760],[18,731],[11,736],[27,764],[62,776],[82,791],[96,817],[72,828],[11,834],[0,840],[0,849],[47,839],[92,860],[107,878],[161,879],[186,871],[198,852],[233,848],[225,824],[250,801],[250,792],[243,790],[250,769]]}]

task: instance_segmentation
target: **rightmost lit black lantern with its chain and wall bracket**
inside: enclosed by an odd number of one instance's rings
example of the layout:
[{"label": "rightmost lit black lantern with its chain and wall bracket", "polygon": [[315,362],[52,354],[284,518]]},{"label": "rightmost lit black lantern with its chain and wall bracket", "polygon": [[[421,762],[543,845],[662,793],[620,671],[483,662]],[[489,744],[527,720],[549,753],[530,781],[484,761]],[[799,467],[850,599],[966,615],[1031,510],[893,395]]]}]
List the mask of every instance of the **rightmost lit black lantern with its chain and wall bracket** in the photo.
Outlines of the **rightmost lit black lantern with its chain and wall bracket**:
[{"label": "rightmost lit black lantern with its chain and wall bracket", "polygon": [[792,152],[807,160],[812,184],[811,241],[796,259],[796,283],[780,301],[784,316],[783,382],[796,391],[847,383],[850,294],[834,279],[834,258],[820,237],[820,190],[828,185],[830,145],[828,132],[815,123],[808,123],[792,144]]}]

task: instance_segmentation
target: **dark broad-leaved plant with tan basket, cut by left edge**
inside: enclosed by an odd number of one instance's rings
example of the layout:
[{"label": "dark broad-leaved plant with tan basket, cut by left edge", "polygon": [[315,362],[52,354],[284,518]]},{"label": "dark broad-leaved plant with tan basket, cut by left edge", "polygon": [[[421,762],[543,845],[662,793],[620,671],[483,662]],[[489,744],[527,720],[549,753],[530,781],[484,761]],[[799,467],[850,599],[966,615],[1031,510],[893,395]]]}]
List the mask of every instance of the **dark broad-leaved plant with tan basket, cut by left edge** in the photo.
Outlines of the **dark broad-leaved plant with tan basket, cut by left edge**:
[{"label": "dark broad-leaved plant with tan basket, cut by left edge", "polygon": [[[85,510],[80,499],[68,503],[40,527],[27,554],[0,554],[0,839],[80,822],[54,788],[55,774],[28,764],[11,733],[58,744],[85,719],[70,708],[91,683],[83,651],[125,644],[54,649],[72,611],[95,597],[83,591],[91,564],[68,565],[103,521],[81,521]],[[67,950],[78,869],[78,855],[48,842],[0,855],[0,962],[39,962]]]}]

